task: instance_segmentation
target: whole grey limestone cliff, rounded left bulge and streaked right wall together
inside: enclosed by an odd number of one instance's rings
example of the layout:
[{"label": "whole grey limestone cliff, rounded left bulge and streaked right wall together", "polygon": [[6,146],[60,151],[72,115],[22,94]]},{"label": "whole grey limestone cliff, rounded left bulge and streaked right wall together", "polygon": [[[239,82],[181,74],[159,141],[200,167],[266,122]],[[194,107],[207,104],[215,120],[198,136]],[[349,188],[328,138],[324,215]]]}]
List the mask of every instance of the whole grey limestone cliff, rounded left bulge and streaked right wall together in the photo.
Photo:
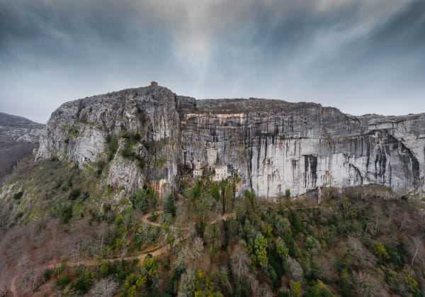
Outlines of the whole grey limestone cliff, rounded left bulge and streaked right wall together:
[{"label": "whole grey limestone cliff, rounded left bulge and streaked right wall together", "polygon": [[[125,131],[140,133],[132,151],[145,167],[119,154]],[[196,101],[161,86],[65,103],[47,123],[38,157],[90,164],[105,157],[111,136],[122,141],[105,183],[129,192],[149,182],[166,194],[182,169],[221,165],[240,177],[240,191],[265,198],[319,186],[423,185],[425,114],[355,117],[315,103]]]}]

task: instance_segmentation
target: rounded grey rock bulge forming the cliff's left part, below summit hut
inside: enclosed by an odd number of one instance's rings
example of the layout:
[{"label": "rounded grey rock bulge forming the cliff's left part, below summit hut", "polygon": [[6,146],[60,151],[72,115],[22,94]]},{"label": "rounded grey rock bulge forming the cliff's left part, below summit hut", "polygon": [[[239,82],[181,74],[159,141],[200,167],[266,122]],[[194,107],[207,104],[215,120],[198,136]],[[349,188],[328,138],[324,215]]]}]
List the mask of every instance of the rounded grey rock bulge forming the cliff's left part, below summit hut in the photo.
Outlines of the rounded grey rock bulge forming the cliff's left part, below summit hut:
[{"label": "rounded grey rock bulge forming the cliff's left part, below summit hut", "polygon": [[[147,183],[169,194],[179,179],[180,100],[169,89],[149,86],[64,103],[47,122],[37,158],[94,168],[94,162],[106,160],[108,142],[118,140],[101,184],[132,194]],[[125,135],[136,134],[140,139],[131,144],[130,157],[123,157]]]}]

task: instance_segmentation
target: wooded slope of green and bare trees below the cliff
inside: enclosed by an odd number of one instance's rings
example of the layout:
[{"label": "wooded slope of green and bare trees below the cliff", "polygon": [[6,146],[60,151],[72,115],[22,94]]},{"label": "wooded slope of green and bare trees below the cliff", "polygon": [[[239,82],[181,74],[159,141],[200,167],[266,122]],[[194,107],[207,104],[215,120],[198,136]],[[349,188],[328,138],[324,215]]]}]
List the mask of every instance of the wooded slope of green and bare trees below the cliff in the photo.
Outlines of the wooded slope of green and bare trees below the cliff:
[{"label": "wooded slope of green and bare trees below the cliff", "polygon": [[[380,186],[235,196],[237,177],[183,176],[120,201],[81,170],[18,164],[0,195],[0,288],[47,296],[423,296],[422,201]],[[11,248],[13,247],[13,248]]]}]

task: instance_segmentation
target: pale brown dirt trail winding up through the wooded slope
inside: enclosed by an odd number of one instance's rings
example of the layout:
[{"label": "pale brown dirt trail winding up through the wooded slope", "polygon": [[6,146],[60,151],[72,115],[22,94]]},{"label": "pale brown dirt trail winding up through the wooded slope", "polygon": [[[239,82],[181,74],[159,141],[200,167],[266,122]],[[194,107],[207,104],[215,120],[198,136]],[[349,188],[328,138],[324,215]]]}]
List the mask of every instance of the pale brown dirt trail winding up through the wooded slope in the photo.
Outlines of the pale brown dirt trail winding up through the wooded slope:
[{"label": "pale brown dirt trail winding up through the wooded slope", "polygon": [[[162,213],[164,213],[164,211],[156,211],[154,214],[159,215],[159,214],[162,214]],[[164,227],[163,225],[161,225],[159,223],[150,221],[149,218],[151,216],[152,216],[151,213],[147,213],[146,215],[142,216],[141,220],[145,223],[148,223],[148,224],[156,226],[156,227]],[[217,222],[220,222],[221,220],[227,220],[228,218],[236,218],[236,213],[234,213],[234,212],[233,213],[225,213],[224,215],[221,215],[220,218],[212,220],[209,223],[215,224]],[[169,228],[173,229],[173,230],[189,230],[190,229],[189,227],[174,227],[174,226],[169,226]],[[187,240],[188,237],[190,237],[189,234],[183,235],[182,237],[180,237],[176,241],[174,241],[173,245],[179,244],[179,242],[183,242],[183,241]],[[163,244],[163,245],[159,245],[158,247],[155,247],[153,250],[140,252],[140,254],[135,254],[134,256],[112,257],[112,258],[108,258],[108,259],[102,259],[102,261],[114,262],[114,261],[120,260],[120,259],[124,259],[124,260],[139,259],[140,262],[143,262],[148,254],[151,254],[153,257],[159,256],[161,254],[165,254],[166,252],[168,252],[170,250],[170,248],[171,247],[169,245]],[[38,271],[45,271],[47,269],[55,269],[57,267],[60,267],[60,265],[63,262],[64,261],[50,262],[50,263],[41,265],[39,267],[35,267],[32,270],[38,272]],[[85,259],[85,260],[81,260],[79,262],[67,263],[67,267],[77,267],[79,265],[94,266],[96,264],[98,264],[98,261],[95,261],[93,259]],[[13,278],[11,279],[11,293],[12,293],[13,296],[16,296],[16,297],[22,296],[22,295],[19,294],[18,288],[16,287],[16,283],[18,281],[19,276],[21,276],[21,274],[13,276]]]}]

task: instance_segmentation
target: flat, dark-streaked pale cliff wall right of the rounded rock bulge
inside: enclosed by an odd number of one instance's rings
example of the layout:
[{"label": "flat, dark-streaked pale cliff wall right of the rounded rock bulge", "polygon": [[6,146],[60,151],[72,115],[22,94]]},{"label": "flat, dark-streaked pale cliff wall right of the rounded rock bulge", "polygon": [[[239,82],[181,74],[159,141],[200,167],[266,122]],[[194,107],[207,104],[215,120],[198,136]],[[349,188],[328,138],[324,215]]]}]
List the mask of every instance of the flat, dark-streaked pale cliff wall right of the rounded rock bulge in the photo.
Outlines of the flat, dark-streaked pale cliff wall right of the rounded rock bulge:
[{"label": "flat, dark-streaked pale cliff wall right of the rounded rock bulge", "polygon": [[197,101],[197,108],[182,115],[186,166],[230,164],[257,196],[371,183],[407,191],[424,176],[425,114],[354,117],[260,99]]}]

